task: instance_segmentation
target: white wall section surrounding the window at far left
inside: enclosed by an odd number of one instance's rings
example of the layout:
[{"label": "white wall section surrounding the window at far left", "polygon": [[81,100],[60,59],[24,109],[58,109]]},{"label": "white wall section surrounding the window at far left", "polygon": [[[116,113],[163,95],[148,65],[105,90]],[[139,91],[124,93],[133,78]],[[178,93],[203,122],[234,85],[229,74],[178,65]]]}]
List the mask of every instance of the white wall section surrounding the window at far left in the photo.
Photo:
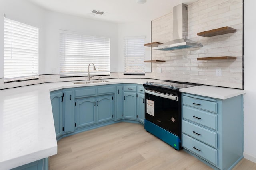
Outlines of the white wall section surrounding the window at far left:
[{"label": "white wall section surrounding the window at far left", "polygon": [[[39,28],[39,74],[44,74],[44,10],[26,0],[0,0],[0,14],[6,18]],[[0,17],[0,78],[4,77],[4,18]]]}]

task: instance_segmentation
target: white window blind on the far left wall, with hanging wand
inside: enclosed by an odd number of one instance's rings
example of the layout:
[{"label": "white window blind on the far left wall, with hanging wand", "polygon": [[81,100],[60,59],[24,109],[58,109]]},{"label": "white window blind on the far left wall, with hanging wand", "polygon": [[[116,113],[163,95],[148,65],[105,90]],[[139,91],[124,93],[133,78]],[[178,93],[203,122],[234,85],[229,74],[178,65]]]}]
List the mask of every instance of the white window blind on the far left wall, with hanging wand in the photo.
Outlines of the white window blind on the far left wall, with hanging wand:
[{"label": "white window blind on the far left wall, with hanging wand", "polygon": [[4,81],[38,78],[38,28],[4,18]]}]

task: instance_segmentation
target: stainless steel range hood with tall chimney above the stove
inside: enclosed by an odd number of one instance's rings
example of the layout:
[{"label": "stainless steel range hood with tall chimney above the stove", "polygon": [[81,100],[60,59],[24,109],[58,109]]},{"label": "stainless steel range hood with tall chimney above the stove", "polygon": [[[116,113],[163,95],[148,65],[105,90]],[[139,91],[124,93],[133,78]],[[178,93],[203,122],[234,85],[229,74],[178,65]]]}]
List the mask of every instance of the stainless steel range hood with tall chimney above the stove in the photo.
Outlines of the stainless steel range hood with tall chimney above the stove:
[{"label": "stainless steel range hood with tall chimney above the stove", "polygon": [[176,50],[202,47],[203,45],[188,39],[188,5],[180,4],[173,8],[173,40],[153,47],[153,50]]}]

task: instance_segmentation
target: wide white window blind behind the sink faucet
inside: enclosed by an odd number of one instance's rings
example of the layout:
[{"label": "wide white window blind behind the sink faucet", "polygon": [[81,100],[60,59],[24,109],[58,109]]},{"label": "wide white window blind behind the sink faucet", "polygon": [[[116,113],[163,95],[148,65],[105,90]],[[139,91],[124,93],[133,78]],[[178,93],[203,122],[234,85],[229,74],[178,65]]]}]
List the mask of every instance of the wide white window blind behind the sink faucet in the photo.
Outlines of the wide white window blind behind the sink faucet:
[{"label": "wide white window blind behind the sink faucet", "polygon": [[110,75],[110,38],[60,32],[60,77]]}]

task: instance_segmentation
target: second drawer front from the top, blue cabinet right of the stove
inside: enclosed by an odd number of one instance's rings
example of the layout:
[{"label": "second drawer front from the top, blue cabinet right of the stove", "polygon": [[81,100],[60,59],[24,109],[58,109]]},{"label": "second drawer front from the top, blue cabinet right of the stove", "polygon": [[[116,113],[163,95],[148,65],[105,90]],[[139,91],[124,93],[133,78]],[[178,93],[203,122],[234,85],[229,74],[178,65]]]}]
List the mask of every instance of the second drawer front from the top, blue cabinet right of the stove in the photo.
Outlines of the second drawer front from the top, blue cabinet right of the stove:
[{"label": "second drawer front from the top, blue cabinet right of the stove", "polygon": [[182,118],[217,130],[217,115],[193,107],[182,106]]}]

